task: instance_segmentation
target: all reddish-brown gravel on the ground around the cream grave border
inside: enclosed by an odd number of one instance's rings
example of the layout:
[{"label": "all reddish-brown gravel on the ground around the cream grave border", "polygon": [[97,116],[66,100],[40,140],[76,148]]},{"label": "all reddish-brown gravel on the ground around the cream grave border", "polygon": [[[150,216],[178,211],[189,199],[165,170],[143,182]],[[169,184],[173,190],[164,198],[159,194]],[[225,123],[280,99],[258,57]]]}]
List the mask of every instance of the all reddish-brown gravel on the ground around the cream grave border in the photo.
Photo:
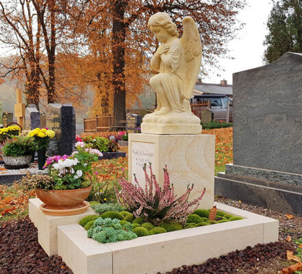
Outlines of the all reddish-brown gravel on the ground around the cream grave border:
[{"label": "all reddish-brown gravel on the ground around the cream grave border", "polygon": [[[292,242],[285,242],[284,238],[286,234],[290,234],[294,238],[302,236],[301,227],[298,225],[298,223],[301,224],[302,218],[295,217],[286,220],[286,214],[283,213],[224,198],[216,197],[216,200],[230,206],[279,219],[281,225],[279,240],[281,241],[268,245],[256,245],[253,248],[247,247],[242,251],[236,250],[220,258],[209,259],[199,265],[179,266],[179,268],[166,272],[166,274],[281,273],[279,271],[289,264],[286,262],[286,250],[294,251]],[[293,227],[296,229],[292,229]],[[47,253],[38,244],[37,229],[27,216],[25,219],[5,223],[0,227],[0,273],[56,274],[73,272],[62,262],[60,256],[47,256]],[[164,273],[159,272],[158,274]]]}]

